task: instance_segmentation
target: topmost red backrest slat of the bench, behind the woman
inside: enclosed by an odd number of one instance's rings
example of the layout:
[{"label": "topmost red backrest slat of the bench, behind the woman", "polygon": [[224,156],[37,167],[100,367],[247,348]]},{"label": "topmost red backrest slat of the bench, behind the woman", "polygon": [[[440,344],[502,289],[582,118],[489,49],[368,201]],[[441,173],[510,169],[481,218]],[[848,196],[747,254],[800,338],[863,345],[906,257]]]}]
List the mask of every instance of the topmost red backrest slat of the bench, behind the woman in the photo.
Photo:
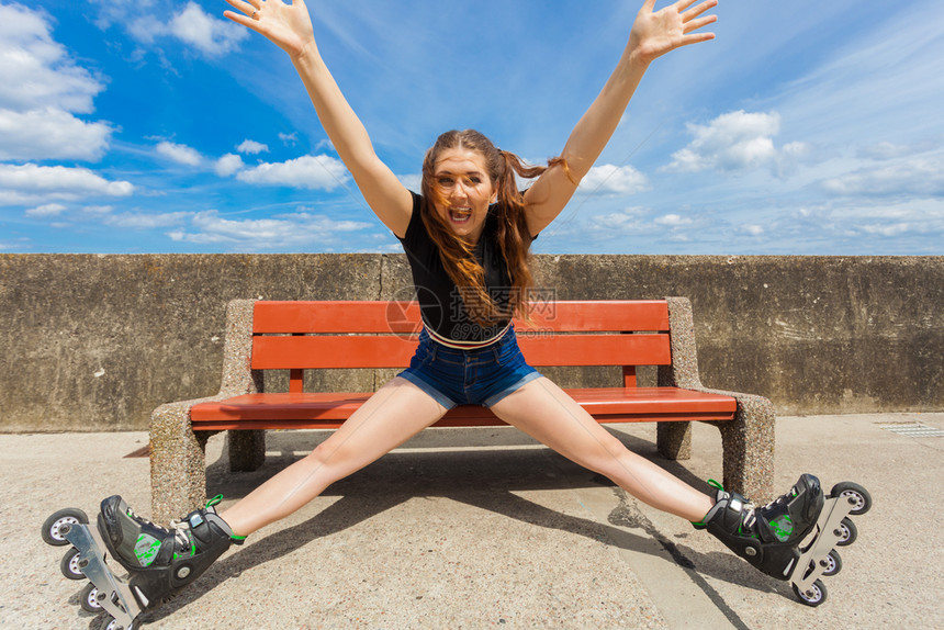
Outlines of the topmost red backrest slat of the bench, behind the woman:
[{"label": "topmost red backrest slat of the bench, behind the woman", "polygon": [[[561,301],[532,303],[531,325],[516,320],[519,330],[557,331],[668,330],[664,300]],[[325,301],[257,302],[256,334],[279,333],[418,333],[416,302]]]}]

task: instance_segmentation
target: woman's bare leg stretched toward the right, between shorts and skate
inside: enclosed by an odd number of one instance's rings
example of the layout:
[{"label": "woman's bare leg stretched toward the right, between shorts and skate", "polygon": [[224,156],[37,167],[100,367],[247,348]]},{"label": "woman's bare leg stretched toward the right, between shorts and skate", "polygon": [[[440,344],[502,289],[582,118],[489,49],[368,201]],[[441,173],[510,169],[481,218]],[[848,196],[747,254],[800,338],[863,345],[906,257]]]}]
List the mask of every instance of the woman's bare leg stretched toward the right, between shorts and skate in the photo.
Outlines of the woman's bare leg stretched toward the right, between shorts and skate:
[{"label": "woman's bare leg stretched toward the right, between shorts and skate", "polygon": [[606,475],[652,507],[697,522],[713,505],[708,495],[627,449],[548,379],[531,381],[492,410],[567,459]]}]

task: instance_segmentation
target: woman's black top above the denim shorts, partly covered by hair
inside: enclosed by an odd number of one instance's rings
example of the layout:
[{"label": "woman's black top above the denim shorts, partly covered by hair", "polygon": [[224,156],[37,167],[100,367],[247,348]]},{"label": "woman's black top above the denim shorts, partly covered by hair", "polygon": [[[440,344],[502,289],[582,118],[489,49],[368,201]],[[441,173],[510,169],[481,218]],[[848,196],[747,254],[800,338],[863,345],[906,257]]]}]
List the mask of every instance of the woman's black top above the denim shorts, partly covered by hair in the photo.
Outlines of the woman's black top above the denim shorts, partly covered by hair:
[{"label": "woman's black top above the denim shorts, partly covered by hair", "polygon": [[[413,283],[416,289],[416,297],[419,302],[419,311],[423,323],[434,339],[448,341],[456,347],[482,346],[504,333],[510,323],[510,317],[505,317],[495,324],[482,327],[470,317],[469,311],[475,308],[476,295],[463,292],[456,286],[442,260],[439,257],[439,248],[426,232],[426,226],[420,216],[420,204],[423,198],[413,194],[413,216],[406,235],[400,238],[406,258],[409,260],[409,269],[413,271]],[[475,244],[475,259],[485,270],[485,291],[498,307],[499,312],[507,312],[512,295],[512,280],[508,273],[508,265],[502,256],[502,249],[496,240],[497,216],[496,205],[488,207],[485,217],[485,226],[479,243]],[[470,303],[467,304],[467,301]]]}]

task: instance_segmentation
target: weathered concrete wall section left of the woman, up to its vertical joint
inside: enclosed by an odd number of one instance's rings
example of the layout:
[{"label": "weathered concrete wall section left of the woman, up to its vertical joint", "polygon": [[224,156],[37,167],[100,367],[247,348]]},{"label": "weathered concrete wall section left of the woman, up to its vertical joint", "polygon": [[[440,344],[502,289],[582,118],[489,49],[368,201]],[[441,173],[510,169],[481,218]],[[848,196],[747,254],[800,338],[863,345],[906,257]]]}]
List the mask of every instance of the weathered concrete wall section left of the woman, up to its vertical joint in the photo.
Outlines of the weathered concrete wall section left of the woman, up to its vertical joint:
[{"label": "weathered concrete wall section left of the woman, up to its vertical joint", "polygon": [[2,255],[0,431],[147,428],[220,389],[236,297],[380,294],[380,256]]}]

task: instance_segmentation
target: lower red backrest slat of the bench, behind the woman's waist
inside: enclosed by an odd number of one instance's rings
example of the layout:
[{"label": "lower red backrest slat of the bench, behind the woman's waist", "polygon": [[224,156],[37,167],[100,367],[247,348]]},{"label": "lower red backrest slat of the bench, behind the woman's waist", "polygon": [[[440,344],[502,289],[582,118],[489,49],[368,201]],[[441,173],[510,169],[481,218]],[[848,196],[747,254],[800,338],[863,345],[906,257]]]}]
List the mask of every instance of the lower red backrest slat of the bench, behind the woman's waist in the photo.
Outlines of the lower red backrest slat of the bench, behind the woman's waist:
[{"label": "lower red backrest slat of the bench, behind the woman's waist", "polygon": [[[405,368],[416,338],[392,336],[255,337],[254,370]],[[552,335],[518,341],[531,365],[665,365],[668,335]]]}]

